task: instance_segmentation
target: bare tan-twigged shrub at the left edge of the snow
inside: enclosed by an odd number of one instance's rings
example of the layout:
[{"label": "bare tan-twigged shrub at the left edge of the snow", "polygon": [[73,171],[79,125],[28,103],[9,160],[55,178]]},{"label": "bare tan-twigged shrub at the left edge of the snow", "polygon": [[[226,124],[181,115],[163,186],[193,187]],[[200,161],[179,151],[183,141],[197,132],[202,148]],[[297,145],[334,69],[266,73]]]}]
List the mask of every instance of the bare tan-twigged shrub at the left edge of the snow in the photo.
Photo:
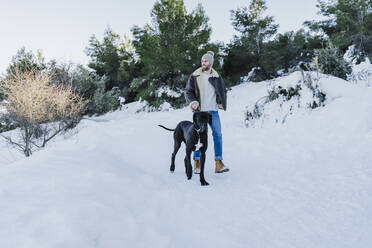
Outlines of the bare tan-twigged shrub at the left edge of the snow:
[{"label": "bare tan-twigged shrub at the left edge of the snow", "polygon": [[56,135],[75,127],[86,102],[71,86],[52,84],[52,75],[16,70],[1,85],[7,114],[19,127],[19,138],[3,136],[26,157]]}]

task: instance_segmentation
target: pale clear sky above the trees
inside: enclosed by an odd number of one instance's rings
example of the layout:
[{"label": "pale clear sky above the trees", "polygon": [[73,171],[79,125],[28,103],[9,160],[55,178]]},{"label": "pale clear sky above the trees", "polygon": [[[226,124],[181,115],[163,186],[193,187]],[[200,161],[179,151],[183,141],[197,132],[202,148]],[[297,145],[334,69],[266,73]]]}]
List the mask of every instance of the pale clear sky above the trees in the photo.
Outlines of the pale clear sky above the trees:
[{"label": "pale clear sky above the trees", "polygon": [[[211,41],[228,43],[234,35],[230,10],[248,6],[248,0],[184,0],[188,11],[201,3],[210,19]],[[155,0],[1,0],[0,75],[21,47],[47,60],[87,64],[89,38],[101,39],[107,27],[131,37],[134,25],[151,22]],[[316,0],[267,0],[267,15],[279,32],[298,30],[306,20],[320,19]]]}]

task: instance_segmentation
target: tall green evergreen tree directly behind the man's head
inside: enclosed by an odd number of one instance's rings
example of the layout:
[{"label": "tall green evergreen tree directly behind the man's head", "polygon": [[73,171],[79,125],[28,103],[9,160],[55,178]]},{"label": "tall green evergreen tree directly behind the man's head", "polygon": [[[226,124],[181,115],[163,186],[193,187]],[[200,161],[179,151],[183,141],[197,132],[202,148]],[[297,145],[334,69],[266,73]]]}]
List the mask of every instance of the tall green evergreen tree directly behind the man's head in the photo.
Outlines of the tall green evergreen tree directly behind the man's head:
[{"label": "tall green evergreen tree directly behind the man's head", "polygon": [[[132,82],[131,90],[155,107],[164,101],[177,107],[184,103],[181,93],[188,76],[200,66],[201,56],[207,50],[218,55],[219,45],[209,43],[211,27],[200,4],[187,13],[182,0],[159,0],[151,17],[151,25],[132,29],[142,76]],[[167,90],[159,93],[161,88]],[[173,96],[166,93],[169,90]]]}]

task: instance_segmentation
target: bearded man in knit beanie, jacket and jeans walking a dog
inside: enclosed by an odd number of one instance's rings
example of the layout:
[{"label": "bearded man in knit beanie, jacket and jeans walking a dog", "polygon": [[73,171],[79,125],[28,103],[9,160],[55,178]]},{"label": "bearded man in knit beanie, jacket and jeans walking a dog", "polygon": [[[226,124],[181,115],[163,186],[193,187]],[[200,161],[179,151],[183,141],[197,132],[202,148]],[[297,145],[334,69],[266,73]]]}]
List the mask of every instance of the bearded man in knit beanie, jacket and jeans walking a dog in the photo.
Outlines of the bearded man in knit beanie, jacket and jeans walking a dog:
[{"label": "bearded man in knit beanie, jacket and jeans walking a dog", "polygon": [[[194,71],[186,85],[186,101],[193,111],[206,111],[212,115],[212,129],[216,173],[229,171],[222,162],[222,134],[218,109],[226,111],[226,86],[212,68],[214,53],[208,51],[201,59],[202,66]],[[194,173],[200,173],[200,152],[194,152]]]}]

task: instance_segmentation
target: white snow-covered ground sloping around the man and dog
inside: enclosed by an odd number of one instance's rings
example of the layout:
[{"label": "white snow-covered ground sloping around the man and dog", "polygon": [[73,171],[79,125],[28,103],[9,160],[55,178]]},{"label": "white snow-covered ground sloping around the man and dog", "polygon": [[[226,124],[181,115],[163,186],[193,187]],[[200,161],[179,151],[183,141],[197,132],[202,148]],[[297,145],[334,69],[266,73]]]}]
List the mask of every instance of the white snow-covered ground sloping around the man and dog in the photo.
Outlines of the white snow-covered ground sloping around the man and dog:
[{"label": "white snow-covered ground sloping around the man and dog", "polygon": [[[298,80],[299,74],[277,79]],[[372,247],[372,88],[323,78],[327,104],[246,128],[273,82],[241,84],[221,112],[224,162],[188,181],[172,133],[188,108],[140,103],[85,119],[23,158],[0,141],[0,247]],[[275,115],[275,113],[272,113]]]}]

